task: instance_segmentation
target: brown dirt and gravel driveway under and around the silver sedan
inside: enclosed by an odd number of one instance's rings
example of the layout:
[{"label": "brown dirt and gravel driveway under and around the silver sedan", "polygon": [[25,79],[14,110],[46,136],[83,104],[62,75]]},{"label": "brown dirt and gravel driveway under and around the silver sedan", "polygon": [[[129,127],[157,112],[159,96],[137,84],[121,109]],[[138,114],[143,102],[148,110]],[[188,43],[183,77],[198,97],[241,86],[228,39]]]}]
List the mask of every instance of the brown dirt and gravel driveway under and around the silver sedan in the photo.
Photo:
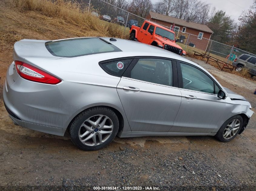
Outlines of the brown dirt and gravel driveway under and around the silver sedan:
[{"label": "brown dirt and gravel driveway under and around the silver sedan", "polygon": [[[224,87],[246,97],[255,111],[256,95],[251,91],[255,83],[194,61]],[[117,137],[106,148],[89,152],[72,145],[68,134],[60,137],[14,126],[1,96],[3,190],[95,190],[93,186],[119,186],[119,190],[122,186],[142,186],[142,190],[155,186],[161,191],[256,190],[255,114],[248,129],[229,143],[210,136]]]}]

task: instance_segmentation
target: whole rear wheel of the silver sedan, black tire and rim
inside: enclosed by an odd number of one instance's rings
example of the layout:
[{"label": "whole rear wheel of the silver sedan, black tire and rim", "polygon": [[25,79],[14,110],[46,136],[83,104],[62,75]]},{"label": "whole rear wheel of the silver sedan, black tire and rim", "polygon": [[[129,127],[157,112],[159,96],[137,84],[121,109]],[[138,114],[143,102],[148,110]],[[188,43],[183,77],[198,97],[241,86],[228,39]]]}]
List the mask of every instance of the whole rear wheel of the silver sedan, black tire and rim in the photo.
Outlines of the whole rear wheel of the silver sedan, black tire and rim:
[{"label": "whole rear wheel of the silver sedan, black tire and rim", "polygon": [[75,117],[69,133],[71,141],[78,148],[95,151],[105,147],[115,138],[118,127],[119,121],[114,111],[108,107],[92,107]]}]

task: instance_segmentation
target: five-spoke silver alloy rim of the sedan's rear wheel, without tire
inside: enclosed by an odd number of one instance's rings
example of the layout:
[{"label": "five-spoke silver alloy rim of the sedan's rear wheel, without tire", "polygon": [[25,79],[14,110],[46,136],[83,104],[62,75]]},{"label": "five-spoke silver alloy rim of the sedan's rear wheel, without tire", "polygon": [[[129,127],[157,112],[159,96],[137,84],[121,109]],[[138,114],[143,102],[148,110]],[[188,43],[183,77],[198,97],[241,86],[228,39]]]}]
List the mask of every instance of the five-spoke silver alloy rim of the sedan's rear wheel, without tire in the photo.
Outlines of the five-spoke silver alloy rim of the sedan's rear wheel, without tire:
[{"label": "five-spoke silver alloy rim of the sedan's rear wheel, without tire", "polygon": [[113,121],[106,115],[95,115],[86,119],[79,128],[79,140],[87,146],[104,143],[113,132]]}]

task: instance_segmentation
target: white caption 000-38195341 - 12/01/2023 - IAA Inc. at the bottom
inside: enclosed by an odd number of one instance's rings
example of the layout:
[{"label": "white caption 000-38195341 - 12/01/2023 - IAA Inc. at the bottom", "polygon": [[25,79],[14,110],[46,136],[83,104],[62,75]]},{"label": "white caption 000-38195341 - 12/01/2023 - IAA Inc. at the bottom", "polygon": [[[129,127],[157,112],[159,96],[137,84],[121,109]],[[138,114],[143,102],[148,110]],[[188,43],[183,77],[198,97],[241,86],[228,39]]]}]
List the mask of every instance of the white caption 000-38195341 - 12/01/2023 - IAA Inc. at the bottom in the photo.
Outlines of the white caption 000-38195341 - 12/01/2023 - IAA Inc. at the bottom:
[{"label": "white caption 000-38195341 - 12/01/2023 - IAA Inc. at the bottom", "polygon": [[94,186],[94,190],[160,190],[155,186]]}]

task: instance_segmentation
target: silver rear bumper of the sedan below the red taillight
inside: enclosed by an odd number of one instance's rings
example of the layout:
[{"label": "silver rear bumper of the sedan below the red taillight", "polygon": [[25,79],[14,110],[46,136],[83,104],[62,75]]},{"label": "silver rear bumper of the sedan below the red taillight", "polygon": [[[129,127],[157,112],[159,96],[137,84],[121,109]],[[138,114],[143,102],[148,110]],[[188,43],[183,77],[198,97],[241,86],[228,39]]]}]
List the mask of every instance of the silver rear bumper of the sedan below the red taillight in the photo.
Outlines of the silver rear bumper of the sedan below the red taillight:
[{"label": "silver rear bumper of the sedan below the red taillight", "polygon": [[28,81],[20,76],[14,80],[15,72],[8,68],[3,88],[5,108],[12,120],[28,129],[64,135],[70,121],[82,109],[65,102],[56,85]]}]

